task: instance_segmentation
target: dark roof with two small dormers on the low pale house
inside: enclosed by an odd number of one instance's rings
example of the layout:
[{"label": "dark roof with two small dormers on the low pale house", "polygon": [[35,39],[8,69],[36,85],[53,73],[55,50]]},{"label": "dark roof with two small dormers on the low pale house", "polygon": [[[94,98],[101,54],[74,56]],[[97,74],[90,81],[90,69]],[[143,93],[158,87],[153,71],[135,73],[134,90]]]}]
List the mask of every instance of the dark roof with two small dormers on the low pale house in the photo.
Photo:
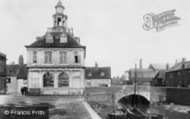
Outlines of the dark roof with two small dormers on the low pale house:
[{"label": "dark roof with two small dormers on the low pale house", "polygon": [[111,79],[110,67],[86,67],[85,79]]}]

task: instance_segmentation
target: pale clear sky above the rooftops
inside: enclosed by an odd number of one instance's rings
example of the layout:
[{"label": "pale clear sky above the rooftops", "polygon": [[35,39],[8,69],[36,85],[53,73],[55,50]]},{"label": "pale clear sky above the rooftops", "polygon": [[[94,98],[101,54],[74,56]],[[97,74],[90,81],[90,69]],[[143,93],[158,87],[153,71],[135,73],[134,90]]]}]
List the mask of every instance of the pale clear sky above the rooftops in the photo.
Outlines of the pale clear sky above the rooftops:
[{"label": "pale clear sky above the rooftops", "polygon": [[[0,52],[18,63],[25,45],[53,26],[58,0],[0,0]],[[190,0],[62,0],[68,26],[86,46],[85,66],[110,66],[113,76],[151,63],[190,59]],[[143,29],[143,16],[176,11],[178,25],[162,31]]]}]

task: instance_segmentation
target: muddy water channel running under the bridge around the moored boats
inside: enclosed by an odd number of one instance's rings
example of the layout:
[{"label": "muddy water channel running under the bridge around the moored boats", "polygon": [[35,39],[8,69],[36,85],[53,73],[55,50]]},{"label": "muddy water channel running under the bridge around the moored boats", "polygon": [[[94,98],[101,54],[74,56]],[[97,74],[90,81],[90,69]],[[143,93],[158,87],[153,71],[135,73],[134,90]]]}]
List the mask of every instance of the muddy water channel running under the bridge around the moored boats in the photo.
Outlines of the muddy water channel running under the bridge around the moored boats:
[{"label": "muddy water channel running under the bridge around the moored boats", "polygon": [[[136,100],[136,101],[135,101]],[[137,103],[138,102],[138,103]],[[107,106],[105,107],[101,113],[100,116],[102,117],[102,119],[136,119],[136,118],[111,118],[109,116],[109,113],[112,112],[113,110],[116,110],[118,108],[128,108],[129,104],[130,105],[134,105],[136,103],[136,105],[138,105],[139,109],[142,112],[146,112],[146,113],[156,113],[156,114],[160,114],[160,115],[165,115],[164,119],[190,119],[190,107],[189,106],[173,106],[173,109],[169,109],[168,110],[168,106],[171,107],[171,104],[150,104],[150,102],[148,100],[146,100],[144,97],[135,97],[134,95],[132,95],[131,97],[124,97],[122,99],[120,99],[118,101],[118,105],[117,106]],[[186,107],[186,108],[184,108]],[[175,110],[175,108],[179,108],[177,110]],[[181,113],[180,109],[186,109],[189,111],[187,111],[186,113]],[[145,118],[142,118],[145,119]]]}]

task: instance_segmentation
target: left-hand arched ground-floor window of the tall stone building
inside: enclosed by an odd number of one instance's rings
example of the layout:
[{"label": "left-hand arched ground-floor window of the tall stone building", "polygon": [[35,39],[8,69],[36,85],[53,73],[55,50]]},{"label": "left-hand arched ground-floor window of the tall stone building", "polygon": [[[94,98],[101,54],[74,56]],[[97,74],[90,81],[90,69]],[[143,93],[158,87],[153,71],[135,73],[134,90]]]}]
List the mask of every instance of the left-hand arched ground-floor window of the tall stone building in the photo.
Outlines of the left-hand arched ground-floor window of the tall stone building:
[{"label": "left-hand arched ground-floor window of the tall stone building", "polygon": [[47,72],[43,76],[43,86],[44,87],[53,87],[54,86],[54,78],[53,74]]}]

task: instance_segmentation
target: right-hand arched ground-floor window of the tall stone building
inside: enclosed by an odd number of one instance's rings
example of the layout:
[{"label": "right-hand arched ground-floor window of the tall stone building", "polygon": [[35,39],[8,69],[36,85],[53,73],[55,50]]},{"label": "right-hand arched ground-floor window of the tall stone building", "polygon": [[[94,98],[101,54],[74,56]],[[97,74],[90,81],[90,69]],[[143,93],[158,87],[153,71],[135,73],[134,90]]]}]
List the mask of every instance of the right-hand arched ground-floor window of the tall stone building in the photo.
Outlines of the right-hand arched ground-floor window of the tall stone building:
[{"label": "right-hand arched ground-floor window of the tall stone building", "polygon": [[68,87],[69,86],[69,76],[65,72],[59,74],[58,77],[58,87]]}]

